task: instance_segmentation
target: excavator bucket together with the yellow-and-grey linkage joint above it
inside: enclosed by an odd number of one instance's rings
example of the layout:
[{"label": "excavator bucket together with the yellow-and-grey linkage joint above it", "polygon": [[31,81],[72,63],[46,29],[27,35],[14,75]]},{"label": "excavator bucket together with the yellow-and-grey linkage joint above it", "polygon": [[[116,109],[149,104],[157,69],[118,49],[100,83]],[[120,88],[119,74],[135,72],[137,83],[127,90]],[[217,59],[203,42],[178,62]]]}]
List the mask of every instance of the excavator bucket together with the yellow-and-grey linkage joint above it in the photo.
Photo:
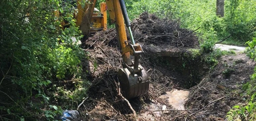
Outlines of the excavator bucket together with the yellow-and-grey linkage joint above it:
[{"label": "excavator bucket together with the yellow-and-grey linkage joint above it", "polygon": [[117,73],[121,80],[123,95],[127,99],[145,95],[149,91],[149,77],[143,67],[139,65],[140,54],[143,53],[141,46],[138,43],[129,44],[121,51],[122,55],[130,53],[134,56],[134,62],[131,61],[130,66],[123,62],[124,68],[119,69]]}]

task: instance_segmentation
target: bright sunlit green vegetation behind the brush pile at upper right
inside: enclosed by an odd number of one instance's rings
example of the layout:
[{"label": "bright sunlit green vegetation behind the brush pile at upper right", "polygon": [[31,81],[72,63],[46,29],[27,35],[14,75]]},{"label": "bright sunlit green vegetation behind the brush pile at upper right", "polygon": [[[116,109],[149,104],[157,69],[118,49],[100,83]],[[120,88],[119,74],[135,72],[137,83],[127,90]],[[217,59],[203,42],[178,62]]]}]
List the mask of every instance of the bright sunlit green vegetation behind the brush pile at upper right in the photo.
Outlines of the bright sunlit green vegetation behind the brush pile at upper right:
[{"label": "bright sunlit green vegetation behind the brush pile at upper right", "polygon": [[160,17],[180,19],[182,27],[199,29],[202,43],[215,43],[231,35],[223,43],[244,45],[256,30],[256,0],[225,0],[225,16],[216,16],[212,0],[126,0],[128,14],[136,18],[143,11]]}]

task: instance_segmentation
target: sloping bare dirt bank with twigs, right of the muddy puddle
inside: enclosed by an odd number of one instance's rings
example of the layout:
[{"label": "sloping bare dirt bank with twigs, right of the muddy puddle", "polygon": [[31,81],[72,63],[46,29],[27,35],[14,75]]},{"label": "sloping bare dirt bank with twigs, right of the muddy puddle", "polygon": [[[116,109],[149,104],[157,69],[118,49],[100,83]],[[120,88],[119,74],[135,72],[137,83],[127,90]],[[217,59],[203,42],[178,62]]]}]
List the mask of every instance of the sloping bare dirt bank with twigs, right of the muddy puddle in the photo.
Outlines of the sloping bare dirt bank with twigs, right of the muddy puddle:
[{"label": "sloping bare dirt bank with twigs, right of the muddy puddle", "polygon": [[[185,104],[191,111],[189,118],[194,120],[224,121],[226,113],[238,103],[244,103],[242,85],[250,81],[256,63],[245,54],[223,56],[214,70],[202,79],[201,83],[190,89]],[[188,118],[188,119],[189,119]]]}]

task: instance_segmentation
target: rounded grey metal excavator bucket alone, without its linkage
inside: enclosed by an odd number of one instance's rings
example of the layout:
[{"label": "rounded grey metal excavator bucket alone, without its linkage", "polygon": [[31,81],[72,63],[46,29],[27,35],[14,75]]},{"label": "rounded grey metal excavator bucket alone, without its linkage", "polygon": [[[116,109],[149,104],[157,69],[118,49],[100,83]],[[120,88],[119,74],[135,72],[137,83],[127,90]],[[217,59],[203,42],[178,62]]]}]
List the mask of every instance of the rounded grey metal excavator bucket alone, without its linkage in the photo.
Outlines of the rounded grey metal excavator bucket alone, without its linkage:
[{"label": "rounded grey metal excavator bucket alone, without its linkage", "polygon": [[119,69],[118,77],[125,98],[131,99],[145,95],[149,91],[149,78],[145,70],[134,75],[127,69]]}]

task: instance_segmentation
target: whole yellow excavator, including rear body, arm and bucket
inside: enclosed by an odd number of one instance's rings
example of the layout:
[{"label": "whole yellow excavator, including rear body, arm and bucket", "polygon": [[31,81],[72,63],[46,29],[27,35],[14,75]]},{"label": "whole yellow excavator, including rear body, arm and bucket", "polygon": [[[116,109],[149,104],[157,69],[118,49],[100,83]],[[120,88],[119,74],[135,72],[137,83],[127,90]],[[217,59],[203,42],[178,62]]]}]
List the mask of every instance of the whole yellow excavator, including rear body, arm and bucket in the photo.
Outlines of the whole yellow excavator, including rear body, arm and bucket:
[{"label": "whole yellow excavator, including rear body, arm and bucket", "polygon": [[[140,44],[135,43],[132,36],[131,24],[124,0],[106,0],[105,3],[101,3],[101,13],[97,13],[97,15],[93,12],[96,0],[87,0],[88,3],[84,6],[83,1],[85,0],[77,0],[76,25],[79,26],[85,36],[89,35],[90,30],[92,30],[91,25],[95,23],[100,23],[95,24],[97,25],[96,28],[102,28],[99,30],[106,30],[107,23],[104,18],[106,19],[106,10],[108,10],[111,23],[115,23],[116,26],[119,49],[123,58],[123,68],[119,69],[117,73],[122,93],[127,99],[145,95],[149,90],[149,77],[143,67],[139,65],[143,50]],[[95,16],[104,18],[97,21]],[[126,36],[125,25],[130,34],[130,41]],[[134,56],[134,60],[131,59],[131,56]]]}]

